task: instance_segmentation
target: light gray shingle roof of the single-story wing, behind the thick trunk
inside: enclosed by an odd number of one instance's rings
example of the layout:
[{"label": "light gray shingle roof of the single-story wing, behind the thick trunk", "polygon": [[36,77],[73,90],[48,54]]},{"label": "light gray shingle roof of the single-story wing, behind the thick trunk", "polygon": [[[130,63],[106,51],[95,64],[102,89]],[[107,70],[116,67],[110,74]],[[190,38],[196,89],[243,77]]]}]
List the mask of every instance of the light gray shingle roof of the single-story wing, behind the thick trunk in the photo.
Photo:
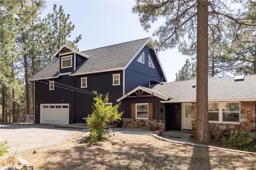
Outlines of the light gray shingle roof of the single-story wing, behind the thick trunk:
[{"label": "light gray shingle roof of the single-story wing, behind the thick trunk", "polygon": [[[192,88],[196,80],[177,81],[156,84],[152,89],[170,96],[170,101],[196,101],[196,88]],[[256,99],[256,75],[245,75],[244,81],[231,78],[209,78],[209,101]]]}]

